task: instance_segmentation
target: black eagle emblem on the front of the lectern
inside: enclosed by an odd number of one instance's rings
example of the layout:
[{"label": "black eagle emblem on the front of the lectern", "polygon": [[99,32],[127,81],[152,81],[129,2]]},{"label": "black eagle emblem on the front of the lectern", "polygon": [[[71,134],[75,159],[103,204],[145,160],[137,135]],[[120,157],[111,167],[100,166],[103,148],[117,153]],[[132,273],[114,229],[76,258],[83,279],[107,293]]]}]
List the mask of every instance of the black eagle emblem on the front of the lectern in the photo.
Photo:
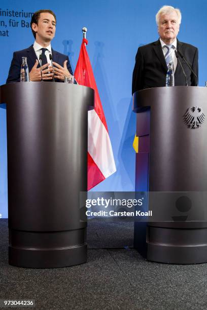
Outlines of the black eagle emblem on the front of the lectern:
[{"label": "black eagle emblem on the front of the lectern", "polygon": [[199,128],[205,120],[205,115],[201,107],[193,106],[187,109],[186,113],[183,115],[184,123],[190,129]]}]

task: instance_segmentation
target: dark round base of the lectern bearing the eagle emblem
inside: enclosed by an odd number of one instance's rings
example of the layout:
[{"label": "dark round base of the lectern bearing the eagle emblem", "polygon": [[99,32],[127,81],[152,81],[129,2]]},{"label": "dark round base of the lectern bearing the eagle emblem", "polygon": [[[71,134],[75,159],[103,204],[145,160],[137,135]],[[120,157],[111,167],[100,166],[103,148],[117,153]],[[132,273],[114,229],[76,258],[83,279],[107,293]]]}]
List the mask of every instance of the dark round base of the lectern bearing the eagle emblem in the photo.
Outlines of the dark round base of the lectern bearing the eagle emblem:
[{"label": "dark round base of the lectern bearing the eagle emblem", "polygon": [[[155,227],[147,226],[146,222],[141,225],[136,223],[134,248],[150,261],[168,264],[206,263],[207,228],[202,227],[201,223],[200,228],[192,228],[193,224],[198,223],[184,224],[191,225],[191,228]],[[175,223],[171,225],[175,226]]]}]

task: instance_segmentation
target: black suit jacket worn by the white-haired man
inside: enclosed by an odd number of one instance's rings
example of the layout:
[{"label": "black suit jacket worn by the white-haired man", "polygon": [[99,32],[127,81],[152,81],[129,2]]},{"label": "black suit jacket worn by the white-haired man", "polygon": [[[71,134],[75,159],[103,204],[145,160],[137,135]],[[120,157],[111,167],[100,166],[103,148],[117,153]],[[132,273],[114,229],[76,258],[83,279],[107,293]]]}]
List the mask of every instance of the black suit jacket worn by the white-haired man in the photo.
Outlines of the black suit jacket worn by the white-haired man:
[{"label": "black suit jacket worn by the white-haired man", "polygon": [[[190,44],[179,42],[177,50],[180,51],[193,71],[198,76],[198,49]],[[179,57],[187,75],[188,85],[195,86],[196,78],[184,60]],[[166,83],[167,65],[164,59],[160,40],[141,46],[136,54],[136,62],[132,78],[132,94],[138,90],[152,87],[162,87]],[[186,80],[178,61],[175,71],[175,86],[185,86]]]}]

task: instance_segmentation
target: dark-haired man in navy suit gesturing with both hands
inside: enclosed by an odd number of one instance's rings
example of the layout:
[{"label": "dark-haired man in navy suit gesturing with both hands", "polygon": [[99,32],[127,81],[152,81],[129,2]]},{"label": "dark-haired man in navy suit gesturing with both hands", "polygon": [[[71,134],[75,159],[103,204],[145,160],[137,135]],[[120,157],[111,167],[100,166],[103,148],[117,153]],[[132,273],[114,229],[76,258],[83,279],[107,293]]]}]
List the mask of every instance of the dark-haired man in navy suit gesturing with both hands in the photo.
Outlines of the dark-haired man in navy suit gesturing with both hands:
[{"label": "dark-haired man in navy suit gesturing with both hands", "polygon": [[[29,80],[64,82],[64,76],[73,75],[68,56],[60,54],[51,48],[50,42],[55,36],[56,16],[50,10],[40,10],[32,15],[30,22],[34,35],[34,44],[29,48],[14,52],[9,75],[6,83],[20,82],[22,57],[27,57]],[[52,60],[50,59],[52,55]],[[42,76],[40,68],[40,55],[42,55]],[[54,66],[54,73],[52,63]]]}]

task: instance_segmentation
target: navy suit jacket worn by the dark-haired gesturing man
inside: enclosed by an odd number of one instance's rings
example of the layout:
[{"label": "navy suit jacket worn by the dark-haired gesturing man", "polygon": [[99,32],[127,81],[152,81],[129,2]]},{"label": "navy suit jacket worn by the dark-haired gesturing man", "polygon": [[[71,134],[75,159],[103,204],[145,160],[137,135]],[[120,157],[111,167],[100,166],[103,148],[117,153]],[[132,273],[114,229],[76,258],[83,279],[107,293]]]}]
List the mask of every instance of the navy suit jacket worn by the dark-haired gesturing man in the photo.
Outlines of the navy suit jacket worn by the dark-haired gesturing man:
[{"label": "navy suit jacket worn by the dark-haired gesturing man", "polygon": [[[7,82],[6,82],[7,84],[14,83],[14,82],[20,82],[22,57],[27,57],[27,64],[28,64],[29,72],[30,72],[37,59],[36,53],[34,52],[34,49],[33,49],[33,45],[31,45],[28,49],[14,52],[11,66],[9,69],[9,75],[8,75]],[[60,54],[52,49],[52,59],[54,62],[57,62],[61,66],[63,66],[63,62],[67,60],[67,69],[71,74],[73,74],[68,56]],[[40,64],[38,65],[38,68],[39,67],[40,67]],[[62,81],[55,79],[55,82],[62,82]]]}]

